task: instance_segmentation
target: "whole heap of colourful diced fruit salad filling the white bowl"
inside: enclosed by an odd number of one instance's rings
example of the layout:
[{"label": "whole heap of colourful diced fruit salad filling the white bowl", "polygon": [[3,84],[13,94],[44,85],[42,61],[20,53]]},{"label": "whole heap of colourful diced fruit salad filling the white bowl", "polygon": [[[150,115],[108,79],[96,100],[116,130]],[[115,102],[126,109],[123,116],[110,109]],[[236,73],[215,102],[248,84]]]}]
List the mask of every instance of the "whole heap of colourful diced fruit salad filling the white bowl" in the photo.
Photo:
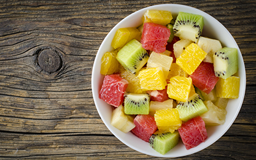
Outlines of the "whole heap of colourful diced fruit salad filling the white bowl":
[{"label": "whole heap of colourful diced fruit salad filling the white bowl", "polygon": [[187,150],[223,125],[228,99],[239,96],[237,49],[202,35],[204,17],[147,10],[137,28],[120,28],[102,56],[99,98],[113,107],[111,125],[166,154]]}]

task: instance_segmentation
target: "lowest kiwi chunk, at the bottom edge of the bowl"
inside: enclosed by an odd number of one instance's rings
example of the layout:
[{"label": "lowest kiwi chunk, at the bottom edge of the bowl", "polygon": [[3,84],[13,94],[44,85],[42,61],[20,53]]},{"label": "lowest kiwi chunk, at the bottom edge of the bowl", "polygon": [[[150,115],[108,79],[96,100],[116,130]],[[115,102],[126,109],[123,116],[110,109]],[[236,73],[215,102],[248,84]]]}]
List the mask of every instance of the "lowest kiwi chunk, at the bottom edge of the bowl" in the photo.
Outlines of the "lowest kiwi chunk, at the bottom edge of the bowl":
[{"label": "lowest kiwi chunk, at the bottom edge of the bowl", "polygon": [[179,143],[179,132],[161,133],[156,131],[152,134],[148,143],[150,147],[164,155]]}]

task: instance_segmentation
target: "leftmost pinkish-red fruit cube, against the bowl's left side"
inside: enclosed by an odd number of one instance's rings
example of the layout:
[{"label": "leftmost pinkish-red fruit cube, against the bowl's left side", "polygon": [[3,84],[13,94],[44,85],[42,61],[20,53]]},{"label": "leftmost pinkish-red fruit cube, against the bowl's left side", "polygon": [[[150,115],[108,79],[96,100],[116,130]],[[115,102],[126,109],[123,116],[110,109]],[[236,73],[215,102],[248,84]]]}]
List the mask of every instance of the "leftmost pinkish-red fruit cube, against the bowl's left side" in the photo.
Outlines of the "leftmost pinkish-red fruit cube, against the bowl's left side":
[{"label": "leftmost pinkish-red fruit cube, against the bowl's left side", "polygon": [[100,89],[99,98],[115,106],[116,108],[124,102],[124,92],[128,81],[119,76],[119,74],[106,75]]}]

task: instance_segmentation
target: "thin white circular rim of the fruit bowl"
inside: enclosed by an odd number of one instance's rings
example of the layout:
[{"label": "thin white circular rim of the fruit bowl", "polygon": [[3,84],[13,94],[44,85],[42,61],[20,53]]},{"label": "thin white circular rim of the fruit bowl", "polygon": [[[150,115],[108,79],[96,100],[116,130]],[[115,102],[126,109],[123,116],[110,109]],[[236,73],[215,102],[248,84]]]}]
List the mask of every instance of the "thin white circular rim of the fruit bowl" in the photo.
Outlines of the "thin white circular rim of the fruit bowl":
[{"label": "thin white circular rim of the fruit bowl", "polygon": [[[182,7],[182,8],[188,8],[189,10],[195,10],[195,12],[198,12],[198,13],[202,13],[204,15],[207,15],[207,19],[211,19],[211,20],[214,20],[216,23],[218,23],[218,25],[225,29],[225,32],[228,34],[228,36],[231,36],[232,37],[232,40],[234,42],[232,42],[237,48],[237,51],[238,51],[238,56],[239,56],[239,60],[240,61],[243,61],[243,56],[241,54],[241,51],[239,49],[239,46],[237,45],[236,43],[236,40],[234,40],[234,37],[230,34],[230,32],[227,30],[227,28],[225,28],[225,26],[223,26],[223,24],[221,24],[218,20],[216,20],[214,17],[212,17],[211,15],[209,15],[208,13],[202,11],[202,10],[199,10],[197,8],[194,8],[192,6],[187,6],[187,5],[184,5],[184,4],[157,4],[157,5],[153,5],[153,6],[148,6],[146,8],[142,8],[136,12],[133,12],[131,13],[130,15],[128,15],[127,17],[125,17],[124,19],[120,20],[120,22],[118,22],[112,29],[111,31],[109,31],[109,33],[113,33],[113,31],[116,31],[116,29],[118,28],[121,28],[121,25],[122,22],[124,22],[125,20],[127,19],[130,19],[131,17],[133,17],[134,15],[138,14],[138,12],[145,12],[147,10],[150,10],[150,9],[154,9],[154,8],[159,8],[159,7],[163,7],[163,6],[170,6],[171,8],[172,7]],[[206,19],[206,17],[204,16],[204,19]],[[204,29],[203,29],[204,30]],[[95,91],[95,86],[99,86],[99,84],[95,84],[97,81],[95,81],[95,74],[99,74],[95,71],[95,68],[97,67],[97,64],[96,64],[96,61],[99,61],[99,59],[101,59],[101,57],[99,56],[100,54],[100,51],[102,50],[102,48],[104,47],[103,44],[106,42],[106,40],[108,40],[109,36],[111,36],[110,34],[108,33],[108,35],[106,35],[106,37],[104,38],[104,40],[102,41],[102,43],[100,44],[100,47],[99,47],[99,50],[97,51],[97,54],[96,54],[96,57],[95,57],[95,60],[93,62],[93,68],[92,68],[92,93],[93,93],[93,100],[95,102],[95,106],[97,108],[97,111],[100,115],[100,118],[102,119],[102,121],[104,122],[104,124],[106,125],[106,127],[108,127],[109,131],[111,131],[112,134],[115,135],[116,138],[118,138],[118,140],[122,141],[122,143],[124,143],[125,145],[127,145],[128,147],[138,151],[138,152],[141,152],[143,154],[147,154],[147,155],[150,155],[150,156],[155,156],[155,157],[182,157],[182,156],[188,156],[190,154],[194,154],[196,152],[199,152],[200,150],[204,150],[205,148],[209,147],[210,145],[212,145],[213,143],[215,143],[216,141],[218,141],[221,136],[223,136],[223,134],[225,134],[225,132],[228,131],[228,129],[231,127],[231,125],[234,123],[234,121],[236,120],[237,118],[237,115],[241,109],[241,106],[243,104],[243,100],[244,100],[244,94],[245,94],[245,90],[246,90],[246,72],[245,72],[245,67],[244,67],[244,61],[243,63],[240,63],[239,64],[239,70],[244,70],[244,72],[239,72],[241,75],[239,75],[240,77],[240,91],[239,91],[239,97],[241,98],[240,102],[239,102],[239,107],[237,108],[237,111],[236,111],[236,114],[233,116],[232,120],[230,120],[229,124],[227,125],[227,127],[225,128],[225,130],[223,130],[221,132],[221,134],[219,134],[218,136],[216,136],[216,138],[214,138],[214,140],[211,141],[211,143],[208,143],[207,145],[205,145],[205,147],[203,148],[193,148],[194,150],[189,152],[188,154],[187,153],[184,153],[184,154],[181,154],[180,156],[168,156],[168,155],[161,155],[161,154],[154,154],[154,153],[145,153],[143,150],[141,150],[140,148],[134,146],[134,145],[129,145],[127,144],[126,141],[124,141],[122,139],[122,137],[120,137],[118,134],[116,134],[115,131],[113,131],[113,129],[111,129],[111,124],[108,124],[106,123],[106,120],[104,119],[104,113],[102,113],[100,111],[100,108],[98,107],[98,102],[96,99],[98,99],[99,95],[98,95],[98,92]],[[241,81],[241,79],[243,79],[243,81]],[[241,84],[242,83],[242,84]],[[244,86],[244,87],[242,87]]]}]

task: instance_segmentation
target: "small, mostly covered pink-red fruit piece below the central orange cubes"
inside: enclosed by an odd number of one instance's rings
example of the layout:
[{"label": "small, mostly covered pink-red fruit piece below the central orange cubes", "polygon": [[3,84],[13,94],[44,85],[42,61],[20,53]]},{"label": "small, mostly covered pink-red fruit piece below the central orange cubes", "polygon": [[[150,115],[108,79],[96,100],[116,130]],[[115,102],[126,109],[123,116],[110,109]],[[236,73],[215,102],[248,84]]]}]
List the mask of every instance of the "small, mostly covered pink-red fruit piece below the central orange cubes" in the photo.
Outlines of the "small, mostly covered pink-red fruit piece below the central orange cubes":
[{"label": "small, mostly covered pink-red fruit piece below the central orange cubes", "polygon": [[163,102],[168,100],[167,86],[163,90],[149,90],[147,93],[150,95],[150,100]]}]

